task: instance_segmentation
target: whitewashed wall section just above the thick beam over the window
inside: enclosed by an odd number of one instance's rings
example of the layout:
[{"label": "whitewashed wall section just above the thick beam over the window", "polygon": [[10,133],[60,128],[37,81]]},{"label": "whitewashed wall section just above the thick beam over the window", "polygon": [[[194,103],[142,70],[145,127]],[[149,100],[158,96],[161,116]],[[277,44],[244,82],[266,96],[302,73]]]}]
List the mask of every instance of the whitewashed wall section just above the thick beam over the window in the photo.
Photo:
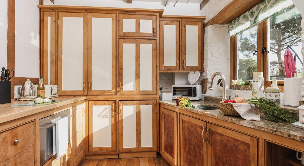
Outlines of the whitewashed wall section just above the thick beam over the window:
[{"label": "whitewashed wall section just above the thick beam over the window", "polygon": [[217,15],[232,0],[212,0],[209,1],[201,10],[201,16],[206,16],[205,22],[208,22]]}]

